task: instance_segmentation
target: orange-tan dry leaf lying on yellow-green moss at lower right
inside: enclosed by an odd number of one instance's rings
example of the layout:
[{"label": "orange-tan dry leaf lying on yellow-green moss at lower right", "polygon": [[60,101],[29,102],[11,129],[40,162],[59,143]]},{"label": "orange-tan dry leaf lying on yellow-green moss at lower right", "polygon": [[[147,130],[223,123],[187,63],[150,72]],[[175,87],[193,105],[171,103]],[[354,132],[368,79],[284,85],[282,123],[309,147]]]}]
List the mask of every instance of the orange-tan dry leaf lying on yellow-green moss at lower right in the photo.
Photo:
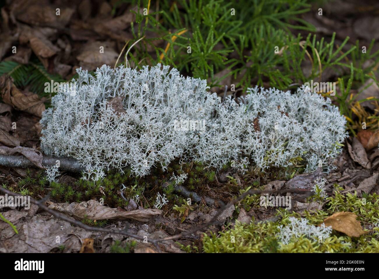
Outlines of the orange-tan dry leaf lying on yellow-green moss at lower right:
[{"label": "orange-tan dry leaf lying on yellow-green moss at lower right", "polygon": [[352,212],[336,212],[326,218],[323,223],[326,227],[332,226],[332,229],[343,232],[348,236],[358,237],[366,233],[362,230],[360,222],[357,221],[357,215]]}]

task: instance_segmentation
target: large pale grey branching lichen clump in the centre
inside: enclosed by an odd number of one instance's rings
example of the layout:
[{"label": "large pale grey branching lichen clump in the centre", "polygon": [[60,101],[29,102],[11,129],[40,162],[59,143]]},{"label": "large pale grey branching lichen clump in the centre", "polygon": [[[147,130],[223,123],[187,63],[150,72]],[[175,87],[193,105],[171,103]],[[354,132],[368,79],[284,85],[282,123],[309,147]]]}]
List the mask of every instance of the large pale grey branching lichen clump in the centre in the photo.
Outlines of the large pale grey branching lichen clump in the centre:
[{"label": "large pale grey branching lichen clump in the centre", "polygon": [[[94,76],[78,70],[75,92],[58,93],[41,119],[41,148],[80,161],[95,180],[110,168],[143,176],[175,158],[243,171],[299,162],[332,169],[346,136],[345,118],[330,99],[251,88],[237,103],[207,92],[205,80],[157,65],[141,70],[103,65]],[[122,98],[123,111],[108,104]],[[204,123],[201,131],[177,127]],[[191,130],[191,129],[189,129]]]}]

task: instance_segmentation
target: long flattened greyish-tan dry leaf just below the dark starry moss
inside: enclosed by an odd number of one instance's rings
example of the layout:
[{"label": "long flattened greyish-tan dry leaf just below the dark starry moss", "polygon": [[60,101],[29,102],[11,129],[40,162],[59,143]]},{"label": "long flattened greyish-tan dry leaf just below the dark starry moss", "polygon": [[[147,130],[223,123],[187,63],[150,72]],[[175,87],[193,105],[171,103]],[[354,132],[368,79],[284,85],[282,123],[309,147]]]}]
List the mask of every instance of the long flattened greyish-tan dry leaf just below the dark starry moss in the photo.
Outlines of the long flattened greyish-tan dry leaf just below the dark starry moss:
[{"label": "long flattened greyish-tan dry leaf just below the dark starry moss", "polygon": [[[73,203],[53,203],[47,202],[49,208],[58,210],[63,213],[74,216],[77,219],[105,220],[105,219],[134,219],[142,222],[149,221],[149,218],[159,215],[162,210],[159,209],[138,209],[126,211],[120,207],[110,208],[100,205],[96,200],[88,202]],[[233,206],[232,206],[233,207]]]}]

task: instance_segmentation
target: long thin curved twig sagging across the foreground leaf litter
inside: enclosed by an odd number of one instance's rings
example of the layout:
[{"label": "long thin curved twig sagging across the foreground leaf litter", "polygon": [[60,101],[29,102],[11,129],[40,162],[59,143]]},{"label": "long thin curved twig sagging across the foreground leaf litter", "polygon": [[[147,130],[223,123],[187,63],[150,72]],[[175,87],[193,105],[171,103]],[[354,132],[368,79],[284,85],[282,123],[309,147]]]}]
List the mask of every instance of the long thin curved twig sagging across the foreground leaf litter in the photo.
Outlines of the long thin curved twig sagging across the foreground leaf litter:
[{"label": "long thin curved twig sagging across the foreground leaf litter", "polygon": [[[105,228],[97,228],[97,227],[91,227],[89,225],[86,225],[86,224],[83,224],[82,222],[80,221],[77,221],[75,219],[72,219],[72,218],[69,218],[68,216],[66,215],[63,215],[61,213],[58,213],[57,211],[55,210],[52,210],[50,209],[49,207],[47,207],[46,205],[44,205],[44,202],[49,198],[49,196],[47,195],[46,197],[44,197],[44,199],[42,200],[34,200],[34,199],[31,199],[30,198],[30,202],[35,204],[35,205],[38,205],[40,208],[42,208],[44,211],[52,214],[54,217],[56,218],[59,218],[63,221],[67,221],[69,222],[70,224],[74,224],[74,225],[77,225],[78,227],[82,228],[82,229],[85,229],[85,230],[88,230],[88,231],[92,231],[92,232],[105,232],[105,233],[115,233],[115,234],[121,234],[121,235],[125,235],[125,236],[129,236],[129,237],[132,237],[132,238],[135,238],[135,239],[138,239],[138,240],[145,240],[147,242],[150,242],[152,243],[158,250],[158,252],[161,252],[161,249],[159,247],[159,243],[160,242],[163,242],[163,241],[169,241],[169,240],[177,240],[179,238],[182,238],[183,236],[186,236],[186,235],[191,235],[199,230],[203,230],[213,224],[216,224],[216,223],[219,223],[219,221],[216,221],[217,217],[219,215],[221,215],[221,213],[226,210],[227,208],[229,208],[229,206],[232,206],[232,205],[235,205],[236,203],[238,203],[240,200],[243,200],[247,195],[254,195],[254,194],[260,194],[260,193],[277,193],[277,194],[282,194],[282,193],[309,193],[311,190],[308,190],[308,189],[282,189],[282,190],[271,190],[271,191],[265,191],[265,190],[249,190],[249,191],[246,191],[244,192],[242,195],[240,195],[239,197],[237,197],[235,200],[232,200],[231,202],[229,202],[228,204],[226,205],[223,205],[221,206],[221,208],[217,211],[217,213],[215,214],[215,216],[213,216],[213,218],[206,222],[205,224],[199,226],[199,227],[196,227],[195,229],[193,230],[189,230],[189,231],[186,231],[186,232],[182,232],[182,233],[179,233],[177,235],[173,235],[173,236],[169,236],[169,237],[165,237],[165,238],[160,238],[160,239],[150,239],[150,238],[144,238],[143,236],[139,236],[139,235],[135,235],[133,233],[129,233],[127,232],[127,229],[125,230],[112,230],[112,229],[105,229]],[[8,189],[5,189],[3,187],[0,187],[0,192],[3,192],[5,194],[8,194],[8,195],[13,195],[13,196],[21,196],[20,194],[17,194],[17,193],[14,193],[12,191],[9,191]]]}]

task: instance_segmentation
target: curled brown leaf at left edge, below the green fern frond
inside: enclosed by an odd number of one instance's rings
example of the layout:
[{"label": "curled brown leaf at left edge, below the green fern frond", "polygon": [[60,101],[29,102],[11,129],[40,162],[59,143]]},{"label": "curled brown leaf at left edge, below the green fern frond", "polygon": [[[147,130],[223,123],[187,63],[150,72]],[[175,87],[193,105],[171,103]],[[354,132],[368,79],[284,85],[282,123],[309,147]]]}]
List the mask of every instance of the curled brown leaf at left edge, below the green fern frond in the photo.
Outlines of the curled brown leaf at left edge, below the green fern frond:
[{"label": "curled brown leaf at left edge, below the green fern frond", "polygon": [[2,98],[6,104],[38,117],[42,116],[42,112],[45,110],[44,102],[36,94],[30,96],[22,94],[13,84],[13,79],[10,76],[3,75],[0,77],[0,91],[2,91]]}]

